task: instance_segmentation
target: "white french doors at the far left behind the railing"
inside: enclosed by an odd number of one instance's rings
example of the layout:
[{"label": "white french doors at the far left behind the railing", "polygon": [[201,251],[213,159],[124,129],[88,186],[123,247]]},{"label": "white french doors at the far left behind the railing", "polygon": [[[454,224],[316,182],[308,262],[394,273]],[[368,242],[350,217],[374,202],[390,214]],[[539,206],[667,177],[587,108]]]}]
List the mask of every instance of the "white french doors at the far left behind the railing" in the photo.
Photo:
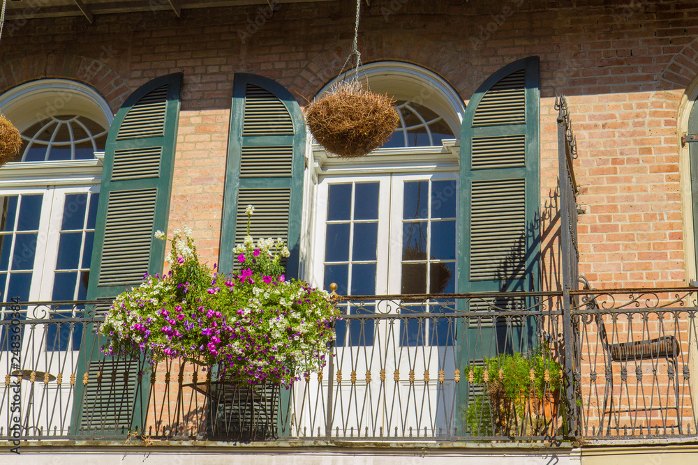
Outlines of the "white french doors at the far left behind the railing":
[{"label": "white french doors at the far left behind the railing", "polygon": [[[58,302],[86,297],[97,191],[98,186],[52,186],[0,192],[3,300]],[[22,425],[44,428],[44,434],[54,427],[67,431],[74,387],[70,375],[75,373],[83,330],[82,323],[70,319],[82,316],[82,310],[71,304],[24,307],[23,318],[51,323],[24,328],[19,368],[11,364],[8,326],[3,326],[0,376],[22,376]],[[1,311],[6,320],[10,307]],[[4,392],[0,412],[6,412],[10,402],[10,390]],[[0,415],[0,425],[7,425],[6,414]]]}]

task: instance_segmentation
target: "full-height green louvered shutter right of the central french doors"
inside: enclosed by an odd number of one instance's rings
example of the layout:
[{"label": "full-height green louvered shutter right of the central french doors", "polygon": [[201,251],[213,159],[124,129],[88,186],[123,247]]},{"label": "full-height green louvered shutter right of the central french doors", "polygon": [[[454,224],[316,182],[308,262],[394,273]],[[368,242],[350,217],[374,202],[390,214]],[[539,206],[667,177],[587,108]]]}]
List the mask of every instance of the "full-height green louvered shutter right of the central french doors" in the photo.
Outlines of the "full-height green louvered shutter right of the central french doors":
[{"label": "full-height green louvered shutter right of the central french doors", "polygon": [[[461,126],[459,292],[540,290],[539,105],[536,56],[498,70],[468,102]],[[500,351],[530,349],[535,321],[492,311],[527,307],[529,300],[473,299],[467,306],[461,301],[462,310],[483,312],[466,322],[461,368],[481,365]],[[459,389],[463,407],[489,404],[478,386],[466,382]],[[487,419],[479,431],[462,427],[466,435],[492,434]]]}]

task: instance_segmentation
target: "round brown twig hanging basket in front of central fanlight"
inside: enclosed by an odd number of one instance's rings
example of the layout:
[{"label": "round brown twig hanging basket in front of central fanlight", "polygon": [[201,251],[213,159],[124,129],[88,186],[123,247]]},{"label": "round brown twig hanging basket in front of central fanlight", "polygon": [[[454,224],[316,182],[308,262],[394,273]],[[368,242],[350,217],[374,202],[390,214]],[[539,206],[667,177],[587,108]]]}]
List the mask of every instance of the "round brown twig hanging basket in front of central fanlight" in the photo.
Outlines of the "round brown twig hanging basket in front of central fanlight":
[{"label": "round brown twig hanging basket in front of central fanlight", "polygon": [[369,153],[388,141],[399,123],[393,100],[364,89],[356,80],[335,84],[305,109],[318,144],[340,157]]}]

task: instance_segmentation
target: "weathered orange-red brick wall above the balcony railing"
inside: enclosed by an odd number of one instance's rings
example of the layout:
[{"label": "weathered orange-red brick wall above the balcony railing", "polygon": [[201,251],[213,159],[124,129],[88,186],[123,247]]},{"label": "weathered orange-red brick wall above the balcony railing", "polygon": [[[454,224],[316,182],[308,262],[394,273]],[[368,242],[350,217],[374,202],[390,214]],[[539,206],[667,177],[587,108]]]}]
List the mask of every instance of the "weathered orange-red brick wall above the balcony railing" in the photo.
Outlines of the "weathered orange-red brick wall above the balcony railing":
[{"label": "weathered orange-red brick wall above the balcony railing", "polygon": [[[647,0],[374,0],[364,6],[364,62],[429,68],[468,100],[506,63],[541,59],[542,210],[554,213],[554,95],[568,97],[579,142],[580,272],[595,287],[685,282],[678,105],[698,70],[698,5]],[[8,22],[0,91],[40,77],[94,86],[116,110],[147,80],[183,70],[170,230],[189,224],[218,256],[232,77],[258,73],[304,105],[341,69],[352,39],[346,1]],[[556,220],[544,223],[547,287]]]}]

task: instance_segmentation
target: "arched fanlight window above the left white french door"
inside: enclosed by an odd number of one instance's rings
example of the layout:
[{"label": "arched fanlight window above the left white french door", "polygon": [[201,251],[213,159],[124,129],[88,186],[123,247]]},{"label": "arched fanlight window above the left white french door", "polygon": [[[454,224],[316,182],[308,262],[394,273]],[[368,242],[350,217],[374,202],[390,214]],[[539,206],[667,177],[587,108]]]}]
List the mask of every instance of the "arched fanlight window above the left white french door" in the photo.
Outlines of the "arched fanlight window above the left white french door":
[{"label": "arched fanlight window above the left white french door", "polygon": [[51,116],[22,131],[22,162],[87,160],[103,151],[107,130],[85,116]]}]

